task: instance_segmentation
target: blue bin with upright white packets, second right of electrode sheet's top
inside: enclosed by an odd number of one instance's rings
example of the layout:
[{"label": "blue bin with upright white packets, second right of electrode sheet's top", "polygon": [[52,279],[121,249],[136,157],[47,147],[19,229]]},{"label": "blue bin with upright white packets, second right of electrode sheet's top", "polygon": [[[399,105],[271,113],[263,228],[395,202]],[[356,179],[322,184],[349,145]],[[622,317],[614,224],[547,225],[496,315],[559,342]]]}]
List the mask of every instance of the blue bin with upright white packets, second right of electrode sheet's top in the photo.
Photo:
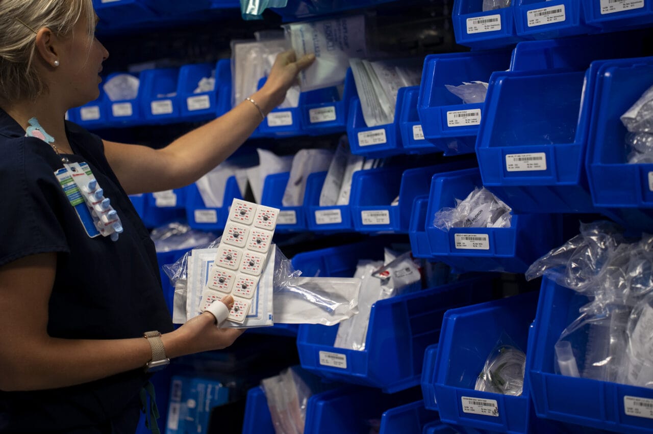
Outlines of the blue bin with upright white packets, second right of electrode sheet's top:
[{"label": "blue bin with upright white packets, second right of electrode sheet's top", "polygon": [[[351,188],[357,180],[354,172],[351,180]],[[320,206],[320,192],[327,179],[327,172],[316,172],[308,175],[306,179],[306,192],[304,193],[304,207],[306,209],[306,223],[308,229],[315,232],[351,232],[354,230],[354,223],[351,218],[351,207],[349,205]],[[351,203],[351,199],[349,201]]]}]

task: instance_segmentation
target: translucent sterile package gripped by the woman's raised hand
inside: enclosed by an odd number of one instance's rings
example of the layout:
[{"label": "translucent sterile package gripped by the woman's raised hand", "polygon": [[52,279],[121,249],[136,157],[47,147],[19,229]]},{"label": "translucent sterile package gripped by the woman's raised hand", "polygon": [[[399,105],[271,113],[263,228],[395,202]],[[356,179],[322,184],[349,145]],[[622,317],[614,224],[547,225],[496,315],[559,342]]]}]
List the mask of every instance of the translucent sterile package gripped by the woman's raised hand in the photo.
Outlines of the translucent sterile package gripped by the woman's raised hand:
[{"label": "translucent sterile package gripped by the woman's raised hand", "polygon": [[313,53],[315,61],[299,74],[302,92],[340,85],[350,57],[367,57],[366,16],[291,23],[284,26],[296,56]]}]

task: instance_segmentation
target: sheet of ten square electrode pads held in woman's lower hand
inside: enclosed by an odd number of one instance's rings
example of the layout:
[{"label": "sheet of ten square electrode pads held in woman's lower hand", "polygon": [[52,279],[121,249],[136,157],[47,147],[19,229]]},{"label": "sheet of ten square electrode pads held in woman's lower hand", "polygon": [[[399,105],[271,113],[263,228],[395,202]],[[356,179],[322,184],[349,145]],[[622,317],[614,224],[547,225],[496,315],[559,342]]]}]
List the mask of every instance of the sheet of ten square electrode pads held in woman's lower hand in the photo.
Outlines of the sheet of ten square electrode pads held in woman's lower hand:
[{"label": "sheet of ten square electrode pads held in woman's lower hand", "polygon": [[227,319],[237,323],[245,321],[270,253],[278,215],[276,208],[234,199],[209,270],[201,311],[209,310],[213,302],[231,295],[234,306]]}]

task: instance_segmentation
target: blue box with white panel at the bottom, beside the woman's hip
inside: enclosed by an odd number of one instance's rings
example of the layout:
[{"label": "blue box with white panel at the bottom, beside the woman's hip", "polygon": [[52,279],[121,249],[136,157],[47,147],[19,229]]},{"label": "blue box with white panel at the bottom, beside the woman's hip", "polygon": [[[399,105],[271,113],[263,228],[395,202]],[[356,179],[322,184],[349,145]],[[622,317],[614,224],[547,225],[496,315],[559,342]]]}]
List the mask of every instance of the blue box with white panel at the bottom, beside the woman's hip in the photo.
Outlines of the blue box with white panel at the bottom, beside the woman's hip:
[{"label": "blue box with white panel at the bottom, beside the woman's hip", "polygon": [[166,434],[206,433],[211,410],[229,402],[229,388],[219,381],[175,375],[170,383]]}]

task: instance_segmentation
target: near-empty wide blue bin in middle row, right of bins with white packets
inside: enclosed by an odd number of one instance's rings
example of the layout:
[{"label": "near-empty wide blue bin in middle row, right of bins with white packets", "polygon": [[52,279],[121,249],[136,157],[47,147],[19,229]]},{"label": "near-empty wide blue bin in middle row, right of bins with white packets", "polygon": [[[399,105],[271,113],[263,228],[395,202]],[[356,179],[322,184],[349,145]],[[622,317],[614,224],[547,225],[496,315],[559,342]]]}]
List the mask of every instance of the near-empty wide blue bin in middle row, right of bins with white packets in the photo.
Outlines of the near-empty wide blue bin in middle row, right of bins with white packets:
[{"label": "near-empty wide blue bin in middle row, right of bins with white packets", "polygon": [[[349,199],[355,229],[358,232],[407,233],[413,200],[418,195],[428,194],[433,175],[473,164],[475,162],[458,161],[405,171],[401,167],[358,171]],[[399,197],[398,204],[390,205],[396,197]]]}]

